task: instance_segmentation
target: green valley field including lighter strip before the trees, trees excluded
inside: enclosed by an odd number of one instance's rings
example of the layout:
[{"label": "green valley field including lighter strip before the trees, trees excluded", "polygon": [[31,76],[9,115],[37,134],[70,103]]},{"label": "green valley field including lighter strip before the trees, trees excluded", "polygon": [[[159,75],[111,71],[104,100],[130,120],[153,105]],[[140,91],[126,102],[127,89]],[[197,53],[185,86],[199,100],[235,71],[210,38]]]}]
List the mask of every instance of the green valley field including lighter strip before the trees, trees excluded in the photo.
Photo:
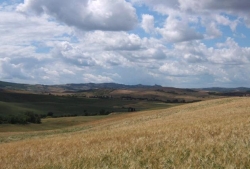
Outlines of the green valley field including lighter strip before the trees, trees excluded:
[{"label": "green valley field including lighter strip before the trees, trees excluded", "polygon": [[[177,104],[141,100],[123,100],[118,98],[100,99],[3,92],[0,95],[0,118],[6,119],[15,116],[24,117],[26,112],[33,112],[43,117],[48,116],[48,113],[50,112],[53,113],[53,118],[47,117],[42,119],[42,124],[40,125],[19,125],[18,129],[15,129],[17,128],[15,125],[1,124],[0,132],[58,129],[74,126],[80,122],[82,123],[93,118],[103,118],[100,116],[103,115],[101,112],[106,112],[106,114],[119,114],[127,113],[129,107],[133,107],[136,112],[138,112],[143,110],[168,108],[175,105]],[[72,116],[77,116],[77,118],[61,118]],[[60,119],[55,119],[56,117],[60,117]],[[6,120],[2,121],[3,123],[9,123],[6,122]]]}]

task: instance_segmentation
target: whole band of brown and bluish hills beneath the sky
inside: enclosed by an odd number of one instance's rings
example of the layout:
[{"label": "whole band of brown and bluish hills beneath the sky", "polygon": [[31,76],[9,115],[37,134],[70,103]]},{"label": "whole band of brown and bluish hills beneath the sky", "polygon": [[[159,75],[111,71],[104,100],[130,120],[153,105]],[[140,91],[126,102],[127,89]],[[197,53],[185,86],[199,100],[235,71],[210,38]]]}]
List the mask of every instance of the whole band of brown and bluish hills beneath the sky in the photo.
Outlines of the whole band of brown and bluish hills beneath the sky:
[{"label": "whole band of brown and bluish hills beneath the sky", "polygon": [[203,88],[182,89],[160,85],[125,85],[117,83],[83,83],[64,85],[29,85],[0,81],[0,92],[29,93],[57,96],[76,96],[88,98],[115,98],[124,100],[146,100],[167,103],[192,103],[197,101],[231,97],[249,96],[249,88]]}]

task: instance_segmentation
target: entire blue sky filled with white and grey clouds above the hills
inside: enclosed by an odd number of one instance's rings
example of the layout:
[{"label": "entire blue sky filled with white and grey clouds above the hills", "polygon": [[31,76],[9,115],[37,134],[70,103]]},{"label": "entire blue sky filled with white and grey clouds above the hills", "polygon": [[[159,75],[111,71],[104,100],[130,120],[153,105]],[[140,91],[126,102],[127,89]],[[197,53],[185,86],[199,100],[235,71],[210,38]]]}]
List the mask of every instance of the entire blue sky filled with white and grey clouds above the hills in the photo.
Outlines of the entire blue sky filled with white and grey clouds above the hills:
[{"label": "entire blue sky filled with white and grey clouds above the hills", "polygon": [[0,80],[250,87],[249,0],[0,0]]}]

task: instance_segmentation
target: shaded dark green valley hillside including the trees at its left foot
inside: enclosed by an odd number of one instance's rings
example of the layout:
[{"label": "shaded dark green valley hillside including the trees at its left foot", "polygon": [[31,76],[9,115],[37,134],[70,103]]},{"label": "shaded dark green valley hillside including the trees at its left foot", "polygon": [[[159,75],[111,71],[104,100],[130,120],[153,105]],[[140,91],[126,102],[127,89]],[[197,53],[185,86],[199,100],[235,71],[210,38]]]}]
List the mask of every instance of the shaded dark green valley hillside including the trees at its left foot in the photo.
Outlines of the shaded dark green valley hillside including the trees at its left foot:
[{"label": "shaded dark green valley hillside including the trees at its left foot", "polygon": [[[27,114],[31,114],[31,112],[37,119],[39,117],[46,118],[47,116],[53,118],[99,116],[110,113],[167,108],[178,104],[119,98],[88,98],[80,95],[45,95],[2,90],[0,91],[0,124],[26,124],[31,116],[27,116]],[[41,128],[43,127],[41,126]]]}]

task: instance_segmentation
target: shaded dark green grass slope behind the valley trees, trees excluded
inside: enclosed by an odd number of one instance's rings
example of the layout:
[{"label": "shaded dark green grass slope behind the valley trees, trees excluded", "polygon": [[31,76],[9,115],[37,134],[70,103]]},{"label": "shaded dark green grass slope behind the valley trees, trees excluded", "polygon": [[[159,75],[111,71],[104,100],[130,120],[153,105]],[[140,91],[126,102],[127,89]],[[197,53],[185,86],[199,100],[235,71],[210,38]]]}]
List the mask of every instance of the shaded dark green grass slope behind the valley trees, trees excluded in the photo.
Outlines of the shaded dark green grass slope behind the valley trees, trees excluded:
[{"label": "shaded dark green grass slope behind the valley trees, trees excluded", "polygon": [[54,116],[96,115],[101,110],[127,112],[128,107],[137,110],[166,108],[173,104],[158,104],[140,100],[93,99],[73,96],[54,96],[24,93],[0,93],[0,116],[9,116],[32,111],[36,114],[53,112]]}]

